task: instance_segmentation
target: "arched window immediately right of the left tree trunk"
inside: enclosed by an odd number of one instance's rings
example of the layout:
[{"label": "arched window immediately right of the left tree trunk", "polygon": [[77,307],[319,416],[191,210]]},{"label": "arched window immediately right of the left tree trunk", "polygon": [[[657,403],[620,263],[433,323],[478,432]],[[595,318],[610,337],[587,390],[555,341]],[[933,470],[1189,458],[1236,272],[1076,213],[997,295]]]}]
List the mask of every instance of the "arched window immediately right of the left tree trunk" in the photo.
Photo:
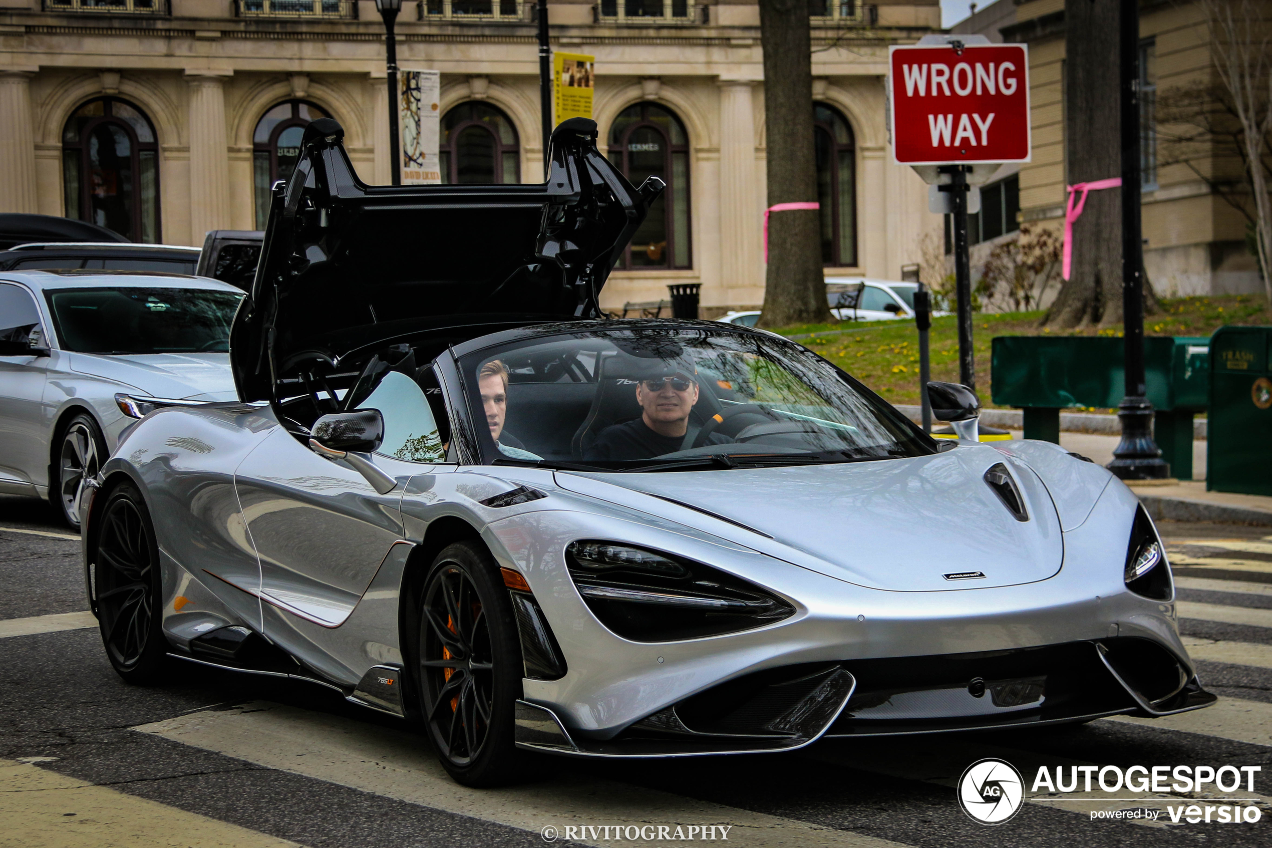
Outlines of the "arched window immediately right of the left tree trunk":
[{"label": "arched window immediately right of the left tree trunk", "polygon": [[813,104],[817,200],[822,205],[822,264],[857,264],[856,145],[852,127],[824,103]]}]

